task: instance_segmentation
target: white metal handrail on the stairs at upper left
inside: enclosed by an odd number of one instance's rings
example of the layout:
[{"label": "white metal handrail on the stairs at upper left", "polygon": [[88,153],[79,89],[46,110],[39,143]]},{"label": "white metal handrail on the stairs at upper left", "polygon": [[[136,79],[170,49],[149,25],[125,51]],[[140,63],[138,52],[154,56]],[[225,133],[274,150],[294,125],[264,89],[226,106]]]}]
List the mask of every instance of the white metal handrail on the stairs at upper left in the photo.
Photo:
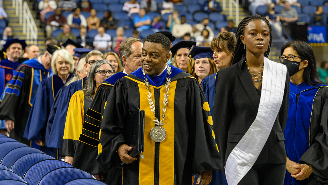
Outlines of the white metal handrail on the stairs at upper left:
[{"label": "white metal handrail on the stairs at upper left", "polygon": [[26,34],[26,40],[30,44],[37,45],[38,28],[33,15],[26,1],[12,0],[12,6],[16,8],[16,15],[19,15],[19,23],[23,23],[23,33]]}]

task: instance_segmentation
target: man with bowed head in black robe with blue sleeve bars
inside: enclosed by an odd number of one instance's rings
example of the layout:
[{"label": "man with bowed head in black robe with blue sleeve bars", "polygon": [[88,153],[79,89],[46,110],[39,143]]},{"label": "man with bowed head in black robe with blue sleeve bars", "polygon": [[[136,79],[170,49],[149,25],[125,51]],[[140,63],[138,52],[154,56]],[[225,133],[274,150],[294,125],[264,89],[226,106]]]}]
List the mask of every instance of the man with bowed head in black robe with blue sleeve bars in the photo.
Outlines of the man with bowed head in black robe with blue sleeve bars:
[{"label": "man with bowed head in black robe with blue sleeve bars", "polygon": [[26,122],[35,99],[40,82],[53,75],[51,58],[58,46],[48,46],[44,55],[22,63],[9,81],[6,94],[1,102],[0,119],[6,119],[5,125],[10,137],[30,145],[23,138]]}]

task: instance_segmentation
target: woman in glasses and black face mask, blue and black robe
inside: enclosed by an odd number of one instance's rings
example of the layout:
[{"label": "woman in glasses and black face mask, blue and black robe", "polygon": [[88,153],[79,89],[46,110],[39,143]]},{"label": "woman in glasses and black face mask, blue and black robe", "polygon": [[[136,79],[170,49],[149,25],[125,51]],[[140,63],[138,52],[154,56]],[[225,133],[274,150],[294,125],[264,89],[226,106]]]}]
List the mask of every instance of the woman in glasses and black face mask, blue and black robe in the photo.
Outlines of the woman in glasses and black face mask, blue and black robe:
[{"label": "woman in glasses and black face mask, blue and black robe", "polygon": [[308,43],[286,43],[280,61],[290,75],[284,184],[328,184],[328,86]]}]

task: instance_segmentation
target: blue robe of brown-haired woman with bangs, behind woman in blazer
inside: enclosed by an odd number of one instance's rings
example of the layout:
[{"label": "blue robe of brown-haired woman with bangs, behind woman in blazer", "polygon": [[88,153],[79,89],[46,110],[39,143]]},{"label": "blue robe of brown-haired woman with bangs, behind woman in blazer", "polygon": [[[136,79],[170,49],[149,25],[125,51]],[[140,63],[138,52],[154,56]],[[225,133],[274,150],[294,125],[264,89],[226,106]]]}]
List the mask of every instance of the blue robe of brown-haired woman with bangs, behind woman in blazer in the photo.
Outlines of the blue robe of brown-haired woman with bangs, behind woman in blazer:
[{"label": "blue robe of brown-haired woman with bangs, behind woman in blazer", "polygon": [[[210,106],[210,112],[213,117],[213,106],[214,106],[214,97],[215,97],[215,85],[216,85],[216,76],[217,73],[214,73],[210,76],[205,77],[202,82],[200,83],[200,86],[202,86],[205,97],[208,101],[208,104]],[[195,177],[196,179],[196,177]],[[194,182],[196,184],[196,180]],[[212,181],[210,182],[210,185],[223,185],[227,184],[227,179],[225,175],[222,173],[222,171],[212,171]]]}]

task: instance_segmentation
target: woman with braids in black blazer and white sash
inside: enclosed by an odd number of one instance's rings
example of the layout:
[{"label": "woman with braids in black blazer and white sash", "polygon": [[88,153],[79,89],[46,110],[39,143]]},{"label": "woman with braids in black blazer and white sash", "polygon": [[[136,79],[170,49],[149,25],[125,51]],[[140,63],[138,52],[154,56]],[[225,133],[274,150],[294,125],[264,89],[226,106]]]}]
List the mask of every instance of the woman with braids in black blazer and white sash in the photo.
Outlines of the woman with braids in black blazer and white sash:
[{"label": "woman with braids in black blazer and white sash", "polygon": [[216,77],[213,128],[224,172],[229,185],[282,185],[287,68],[266,58],[271,26],[264,17],[245,17],[236,38],[233,65]]}]

